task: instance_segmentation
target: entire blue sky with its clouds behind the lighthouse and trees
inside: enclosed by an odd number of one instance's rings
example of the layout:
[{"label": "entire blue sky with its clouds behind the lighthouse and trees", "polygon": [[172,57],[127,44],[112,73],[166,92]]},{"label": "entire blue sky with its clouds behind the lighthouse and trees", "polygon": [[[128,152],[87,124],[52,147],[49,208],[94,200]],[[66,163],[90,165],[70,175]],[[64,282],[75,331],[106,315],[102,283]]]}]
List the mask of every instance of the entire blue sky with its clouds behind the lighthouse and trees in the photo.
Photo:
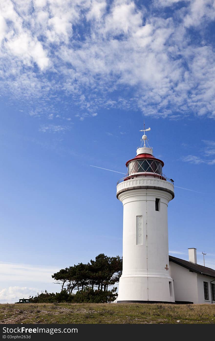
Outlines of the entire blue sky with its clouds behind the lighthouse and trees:
[{"label": "entire blue sky with its clouds behind the lighthouse and trees", "polygon": [[90,165],[126,173],[144,119],[175,180],[169,252],[215,268],[214,19],[212,0],[0,4],[0,302],[122,255],[123,174]]}]

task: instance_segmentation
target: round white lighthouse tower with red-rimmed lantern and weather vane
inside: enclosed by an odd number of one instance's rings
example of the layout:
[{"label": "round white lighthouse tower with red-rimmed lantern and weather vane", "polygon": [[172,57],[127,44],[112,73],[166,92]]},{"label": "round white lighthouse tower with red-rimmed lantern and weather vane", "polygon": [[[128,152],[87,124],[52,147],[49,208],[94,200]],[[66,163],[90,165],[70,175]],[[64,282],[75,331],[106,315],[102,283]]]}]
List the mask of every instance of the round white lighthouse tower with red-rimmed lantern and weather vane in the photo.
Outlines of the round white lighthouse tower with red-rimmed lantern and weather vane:
[{"label": "round white lighthouse tower with red-rimmed lantern and weather vane", "polygon": [[174,198],[173,180],[162,173],[145,129],[128,174],[117,184],[123,203],[123,271],[118,303],[175,302],[169,275],[167,206]]}]

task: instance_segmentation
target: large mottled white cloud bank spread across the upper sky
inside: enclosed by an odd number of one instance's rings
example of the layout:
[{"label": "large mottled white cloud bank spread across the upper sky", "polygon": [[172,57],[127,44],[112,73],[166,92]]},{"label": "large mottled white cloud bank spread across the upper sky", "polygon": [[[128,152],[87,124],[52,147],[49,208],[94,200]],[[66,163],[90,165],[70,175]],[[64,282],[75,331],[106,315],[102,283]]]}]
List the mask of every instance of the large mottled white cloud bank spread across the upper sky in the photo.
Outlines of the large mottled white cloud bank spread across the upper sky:
[{"label": "large mottled white cloud bank spread across the upper sky", "polygon": [[[165,18],[158,6],[173,12]],[[82,121],[101,107],[215,118],[215,52],[201,38],[215,18],[214,0],[159,0],[150,10],[132,0],[5,0],[0,11],[3,94],[42,98],[47,113],[62,91]]]}]

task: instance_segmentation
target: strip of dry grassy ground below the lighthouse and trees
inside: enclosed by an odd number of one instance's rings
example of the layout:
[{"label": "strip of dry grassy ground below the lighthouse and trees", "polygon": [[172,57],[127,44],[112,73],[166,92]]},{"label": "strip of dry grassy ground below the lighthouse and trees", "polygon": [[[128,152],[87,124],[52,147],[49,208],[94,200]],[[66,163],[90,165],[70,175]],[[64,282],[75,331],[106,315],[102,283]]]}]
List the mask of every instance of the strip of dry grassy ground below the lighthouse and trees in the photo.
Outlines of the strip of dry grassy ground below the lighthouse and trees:
[{"label": "strip of dry grassy ground below the lighthouse and trees", "polygon": [[9,323],[211,324],[215,323],[215,305],[175,305],[157,303],[0,304],[0,324]]}]

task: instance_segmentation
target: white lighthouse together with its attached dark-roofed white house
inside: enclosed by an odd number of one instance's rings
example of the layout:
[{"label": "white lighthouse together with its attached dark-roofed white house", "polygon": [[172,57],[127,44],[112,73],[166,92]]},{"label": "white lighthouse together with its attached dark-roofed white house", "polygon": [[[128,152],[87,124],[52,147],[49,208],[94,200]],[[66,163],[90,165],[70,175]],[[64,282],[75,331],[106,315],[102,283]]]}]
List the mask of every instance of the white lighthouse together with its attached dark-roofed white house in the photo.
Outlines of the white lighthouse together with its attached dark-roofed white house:
[{"label": "white lighthouse together with its attached dark-roofed white house", "polygon": [[149,130],[144,126],[142,145],[117,184],[123,203],[118,302],[210,303],[215,301],[215,270],[196,264],[196,249],[189,250],[190,262],[168,255],[167,207],[174,198],[174,181],[163,174],[163,161],[147,144]]}]

